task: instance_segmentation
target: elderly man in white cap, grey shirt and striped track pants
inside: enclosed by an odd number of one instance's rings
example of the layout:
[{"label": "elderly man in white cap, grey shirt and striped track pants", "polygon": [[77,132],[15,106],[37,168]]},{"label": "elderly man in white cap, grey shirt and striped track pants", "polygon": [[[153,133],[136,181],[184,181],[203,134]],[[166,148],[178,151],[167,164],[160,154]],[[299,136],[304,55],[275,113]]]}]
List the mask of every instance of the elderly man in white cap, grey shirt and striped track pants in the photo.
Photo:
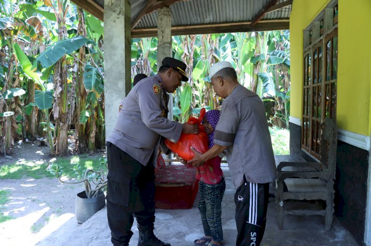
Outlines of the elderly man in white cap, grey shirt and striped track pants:
[{"label": "elderly man in white cap, grey shirt and striped track pants", "polygon": [[265,108],[258,95],[238,83],[229,62],[214,64],[210,77],[214,91],[225,99],[214,133],[214,146],[203,154],[193,149],[195,157],[188,163],[199,167],[227,150],[237,188],[236,245],[260,245],[266,225],[269,183],[277,176]]}]

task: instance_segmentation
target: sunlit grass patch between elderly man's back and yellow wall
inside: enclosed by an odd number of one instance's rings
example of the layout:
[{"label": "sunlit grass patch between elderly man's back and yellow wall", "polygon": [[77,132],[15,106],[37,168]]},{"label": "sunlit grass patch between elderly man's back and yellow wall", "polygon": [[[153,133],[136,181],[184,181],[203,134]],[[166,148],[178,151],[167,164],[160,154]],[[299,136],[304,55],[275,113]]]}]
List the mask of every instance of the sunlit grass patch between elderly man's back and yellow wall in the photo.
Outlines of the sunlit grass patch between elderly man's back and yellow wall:
[{"label": "sunlit grass patch between elderly man's back and yellow wall", "polygon": [[275,155],[290,154],[290,131],[277,126],[269,127]]}]

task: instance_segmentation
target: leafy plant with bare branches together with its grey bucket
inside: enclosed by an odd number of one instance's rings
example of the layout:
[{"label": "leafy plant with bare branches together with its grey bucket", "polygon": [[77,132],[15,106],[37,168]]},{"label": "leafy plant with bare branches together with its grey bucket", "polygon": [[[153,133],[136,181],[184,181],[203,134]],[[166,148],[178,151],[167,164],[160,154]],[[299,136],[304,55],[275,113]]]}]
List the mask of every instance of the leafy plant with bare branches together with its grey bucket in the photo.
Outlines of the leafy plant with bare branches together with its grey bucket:
[{"label": "leafy plant with bare branches together with its grey bucket", "polygon": [[75,215],[78,223],[84,223],[93,214],[101,210],[105,205],[105,195],[103,193],[107,186],[107,180],[104,178],[107,169],[107,159],[99,159],[99,170],[92,169],[83,170],[80,164],[74,165],[73,170],[77,176],[78,181],[62,180],[63,170],[57,164],[48,166],[48,171],[56,176],[58,180],[65,184],[84,184],[85,190],[76,195]]}]

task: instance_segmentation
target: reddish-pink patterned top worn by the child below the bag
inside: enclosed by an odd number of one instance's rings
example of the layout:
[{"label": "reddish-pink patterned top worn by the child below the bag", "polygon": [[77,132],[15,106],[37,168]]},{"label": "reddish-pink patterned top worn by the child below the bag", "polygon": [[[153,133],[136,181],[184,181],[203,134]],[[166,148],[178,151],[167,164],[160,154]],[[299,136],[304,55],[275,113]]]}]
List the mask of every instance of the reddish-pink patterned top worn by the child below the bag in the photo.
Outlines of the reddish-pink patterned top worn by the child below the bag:
[{"label": "reddish-pink patterned top worn by the child below the bag", "polygon": [[205,164],[196,170],[196,178],[207,184],[217,184],[222,180],[223,171],[220,168],[222,158],[215,156],[205,162]]}]

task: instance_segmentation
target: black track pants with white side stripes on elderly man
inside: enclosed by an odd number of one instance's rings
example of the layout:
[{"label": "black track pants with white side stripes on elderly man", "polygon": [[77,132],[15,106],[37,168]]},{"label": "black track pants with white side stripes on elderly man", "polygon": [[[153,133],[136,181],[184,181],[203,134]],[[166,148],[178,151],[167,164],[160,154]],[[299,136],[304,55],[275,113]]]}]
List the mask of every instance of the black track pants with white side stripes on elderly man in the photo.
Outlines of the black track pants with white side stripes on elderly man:
[{"label": "black track pants with white side stripes on elderly man", "polygon": [[267,222],[269,183],[250,183],[244,178],[234,194],[236,246],[259,246]]}]

